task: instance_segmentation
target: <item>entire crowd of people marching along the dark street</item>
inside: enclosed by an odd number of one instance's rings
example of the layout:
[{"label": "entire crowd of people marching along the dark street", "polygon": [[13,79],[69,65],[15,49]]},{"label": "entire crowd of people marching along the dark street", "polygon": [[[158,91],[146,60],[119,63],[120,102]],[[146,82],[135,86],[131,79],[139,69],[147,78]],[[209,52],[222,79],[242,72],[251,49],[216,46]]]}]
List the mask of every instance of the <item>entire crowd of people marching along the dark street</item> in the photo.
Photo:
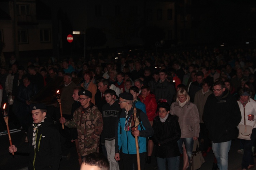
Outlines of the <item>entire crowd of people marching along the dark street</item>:
[{"label": "entire crowd of people marching along the dark street", "polygon": [[[244,170],[255,165],[255,64],[256,49],[222,51],[207,47],[180,54],[145,52],[106,57],[99,53],[88,61],[51,57],[40,63],[37,57],[26,68],[12,57],[10,69],[1,68],[0,92],[2,103],[7,102],[10,114],[15,115],[13,123],[27,133],[30,169],[58,169],[60,146],[72,142],[80,165],[87,155],[100,152],[111,170],[137,169],[138,137],[141,169],[151,163],[154,148],[159,170],[166,165],[169,170],[190,168],[193,144],[199,140],[203,156],[213,150],[213,170],[227,170],[237,126],[246,123],[253,131],[251,140],[241,139]],[[63,77],[62,117],[57,100],[53,106],[30,103],[56,77]],[[74,78],[82,81],[74,83]],[[44,149],[42,143],[47,140],[51,141],[47,147],[54,150]],[[26,149],[13,145],[9,151]],[[45,152],[54,159],[42,165],[38,159],[48,158]]]}]

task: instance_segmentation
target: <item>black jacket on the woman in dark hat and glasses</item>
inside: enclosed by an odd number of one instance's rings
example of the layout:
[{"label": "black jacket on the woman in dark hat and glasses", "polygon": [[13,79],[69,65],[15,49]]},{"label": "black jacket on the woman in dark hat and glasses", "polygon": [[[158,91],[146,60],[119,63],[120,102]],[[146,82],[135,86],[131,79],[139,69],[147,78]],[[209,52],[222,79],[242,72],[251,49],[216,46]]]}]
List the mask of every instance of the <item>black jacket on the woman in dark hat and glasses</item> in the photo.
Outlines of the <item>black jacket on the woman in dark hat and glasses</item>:
[{"label": "black jacket on the woman in dark hat and glasses", "polygon": [[[181,137],[181,129],[178,117],[169,114],[166,121],[162,123],[159,116],[157,116],[153,121],[153,129],[156,157],[170,158],[180,156],[177,141]],[[158,144],[160,144],[160,146]]]}]

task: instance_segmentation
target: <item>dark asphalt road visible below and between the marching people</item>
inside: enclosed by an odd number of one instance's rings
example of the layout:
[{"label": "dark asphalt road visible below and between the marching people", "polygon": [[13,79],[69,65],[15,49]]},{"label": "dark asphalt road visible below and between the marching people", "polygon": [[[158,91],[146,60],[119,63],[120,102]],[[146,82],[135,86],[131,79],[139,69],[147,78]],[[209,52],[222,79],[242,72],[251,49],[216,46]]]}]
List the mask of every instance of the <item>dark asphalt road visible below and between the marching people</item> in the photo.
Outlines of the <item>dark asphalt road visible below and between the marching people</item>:
[{"label": "dark asphalt road visible below and between the marching people", "polygon": [[[1,127],[1,126],[0,126]],[[3,126],[2,126],[3,127]],[[15,129],[14,127],[10,127],[11,130]],[[14,156],[8,152],[8,147],[10,145],[8,135],[2,135],[3,129],[0,128],[0,170],[26,170],[28,164],[28,155],[22,155],[15,153]],[[12,131],[14,132],[14,131]],[[13,145],[20,145],[24,142],[26,137],[25,132],[18,131],[11,133],[12,143]],[[241,169],[241,160],[242,155],[237,153],[239,149],[239,140],[232,141],[231,149],[229,151],[229,170],[238,170]],[[60,170],[79,170],[79,163],[77,161],[77,153],[75,149],[75,145],[67,148],[62,147],[62,155],[64,156],[60,162]],[[182,164],[182,158],[181,158]],[[211,170],[213,165],[213,153],[210,151],[205,157],[205,163],[202,165],[200,170]],[[151,164],[146,164],[146,170],[155,170],[156,158],[152,157]],[[180,166],[180,169],[182,167]],[[256,168],[255,168],[256,169]]]}]

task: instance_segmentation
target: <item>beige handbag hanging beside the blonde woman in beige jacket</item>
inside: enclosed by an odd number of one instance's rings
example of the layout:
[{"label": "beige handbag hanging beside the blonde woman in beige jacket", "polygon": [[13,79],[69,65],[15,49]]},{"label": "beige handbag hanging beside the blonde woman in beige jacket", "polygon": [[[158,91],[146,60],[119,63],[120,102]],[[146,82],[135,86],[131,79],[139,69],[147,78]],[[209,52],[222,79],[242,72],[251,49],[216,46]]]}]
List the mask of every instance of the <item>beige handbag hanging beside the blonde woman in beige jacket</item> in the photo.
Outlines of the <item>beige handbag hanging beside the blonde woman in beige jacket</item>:
[{"label": "beige handbag hanging beside the blonde woman in beige jacket", "polygon": [[201,168],[201,166],[205,163],[202,152],[199,150],[199,141],[198,139],[194,141],[193,152],[190,158],[190,169],[196,170]]}]

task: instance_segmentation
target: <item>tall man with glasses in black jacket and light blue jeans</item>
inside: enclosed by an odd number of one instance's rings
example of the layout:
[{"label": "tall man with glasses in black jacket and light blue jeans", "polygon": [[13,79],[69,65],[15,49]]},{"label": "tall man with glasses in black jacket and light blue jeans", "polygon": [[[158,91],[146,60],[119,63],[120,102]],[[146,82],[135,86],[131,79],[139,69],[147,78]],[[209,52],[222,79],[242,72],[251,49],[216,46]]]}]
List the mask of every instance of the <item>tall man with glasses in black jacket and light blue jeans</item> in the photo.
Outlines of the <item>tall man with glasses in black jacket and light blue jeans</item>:
[{"label": "tall man with glasses in black jacket and light blue jeans", "polygon": [[223,81],[213,84],[211,94],[204,105],[203,122],[212,140],[212,150],[220,170],[228,169],[228,152],[231,140],[237,138],[236,127],[241,112],[234,96],[230,95]]}]

